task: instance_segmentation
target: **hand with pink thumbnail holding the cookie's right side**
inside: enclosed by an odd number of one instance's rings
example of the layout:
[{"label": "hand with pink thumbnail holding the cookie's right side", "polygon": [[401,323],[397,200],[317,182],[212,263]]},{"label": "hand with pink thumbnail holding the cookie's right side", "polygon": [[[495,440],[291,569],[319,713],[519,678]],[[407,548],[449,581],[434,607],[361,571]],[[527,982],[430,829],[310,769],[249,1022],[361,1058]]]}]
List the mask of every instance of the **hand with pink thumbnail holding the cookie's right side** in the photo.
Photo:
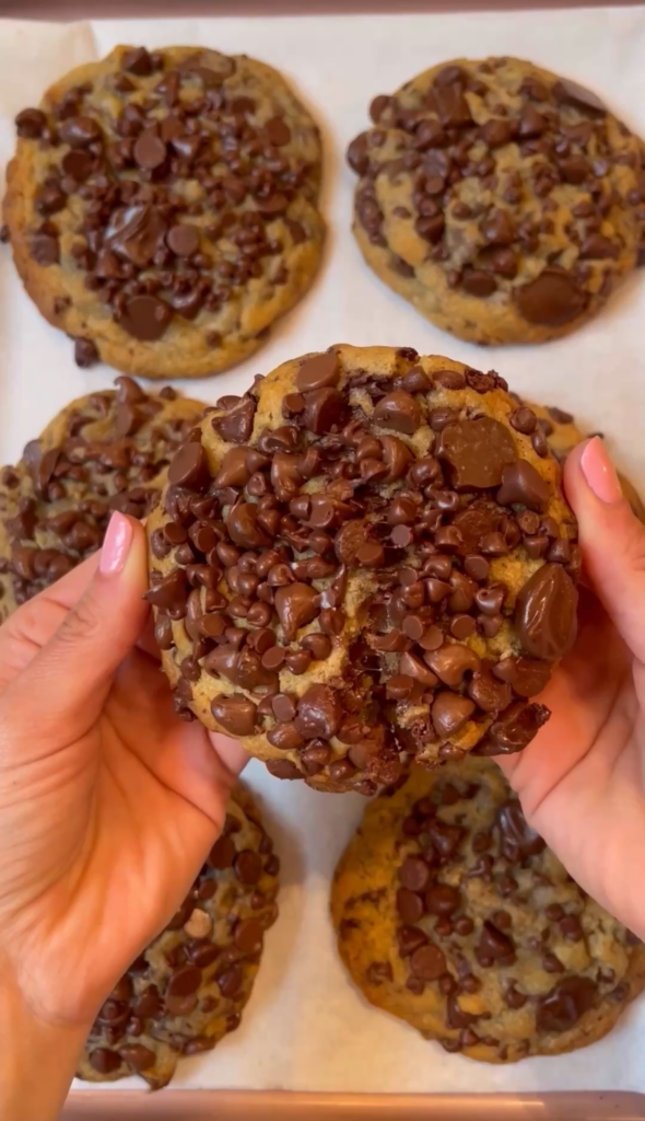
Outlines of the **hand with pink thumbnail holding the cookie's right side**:
[{"label": "hand with pink thumbnail holding the cookie's right side", "polygon": [[578,518],[579,633],[540,697],[552,716],[497,762],[570,874],[645,939],[645,527],[602,441],[564,469]]}]

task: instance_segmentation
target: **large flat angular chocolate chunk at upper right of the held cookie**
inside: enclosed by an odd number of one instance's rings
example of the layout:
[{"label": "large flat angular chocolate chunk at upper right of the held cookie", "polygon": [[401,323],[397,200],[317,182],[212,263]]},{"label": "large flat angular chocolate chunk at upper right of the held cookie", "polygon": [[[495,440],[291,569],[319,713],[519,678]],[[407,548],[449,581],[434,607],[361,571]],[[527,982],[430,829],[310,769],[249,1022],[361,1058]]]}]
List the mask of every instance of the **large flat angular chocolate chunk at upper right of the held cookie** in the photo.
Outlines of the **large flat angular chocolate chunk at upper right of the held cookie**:
[{"label": "large flat angular chocolate chunk at upper right of the held cookie", "polygon": [[448,424],[440,434],[436,454],[446,464],[451,485],[457,490],[497,487],[504,467],[517,457],[513,436],[492,417]]}]

